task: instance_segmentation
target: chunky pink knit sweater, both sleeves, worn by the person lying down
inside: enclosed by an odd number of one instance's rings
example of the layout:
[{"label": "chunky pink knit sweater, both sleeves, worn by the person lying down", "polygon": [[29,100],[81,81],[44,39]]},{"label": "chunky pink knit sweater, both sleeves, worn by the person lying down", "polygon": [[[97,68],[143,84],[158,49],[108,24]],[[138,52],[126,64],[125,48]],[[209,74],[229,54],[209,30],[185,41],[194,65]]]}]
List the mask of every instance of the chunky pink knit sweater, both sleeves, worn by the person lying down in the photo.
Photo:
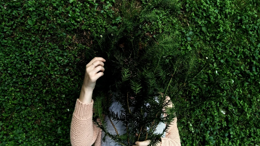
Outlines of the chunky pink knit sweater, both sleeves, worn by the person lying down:
[{"label": "chunky pink knit sweater, both sleeves, worn by the person lying down", "polygon": [[[169,98],[166,98],[169,100]],[[93,99],[91,103],[76,101],[70,125],[70,142],[72,146],[101,146],[102,130],[93,123]],[[164,114],[165,116],[165,114]],[[180,146],[177,118],[170,125],[165,137],[161,138],[161,146]]]}]

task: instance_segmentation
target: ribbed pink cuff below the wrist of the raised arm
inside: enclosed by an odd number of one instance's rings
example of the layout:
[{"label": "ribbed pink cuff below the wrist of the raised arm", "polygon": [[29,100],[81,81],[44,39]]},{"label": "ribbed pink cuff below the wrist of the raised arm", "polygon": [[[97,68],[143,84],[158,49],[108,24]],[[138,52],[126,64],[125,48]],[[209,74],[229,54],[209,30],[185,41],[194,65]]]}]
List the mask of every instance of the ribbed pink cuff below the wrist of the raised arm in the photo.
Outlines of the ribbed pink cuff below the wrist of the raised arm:
[{"label": "ribbed pink cuff below the wrist of the raised arm", "polygon": [[81,119],[81,120],[92,119],[93,103],[94,103],[93,99],[91,99],[90,103],[82,103],[81,101],[79,101],[79,98],[78,98],[76,101],[75,110],[74,110],[73,115],[77,119]]}]

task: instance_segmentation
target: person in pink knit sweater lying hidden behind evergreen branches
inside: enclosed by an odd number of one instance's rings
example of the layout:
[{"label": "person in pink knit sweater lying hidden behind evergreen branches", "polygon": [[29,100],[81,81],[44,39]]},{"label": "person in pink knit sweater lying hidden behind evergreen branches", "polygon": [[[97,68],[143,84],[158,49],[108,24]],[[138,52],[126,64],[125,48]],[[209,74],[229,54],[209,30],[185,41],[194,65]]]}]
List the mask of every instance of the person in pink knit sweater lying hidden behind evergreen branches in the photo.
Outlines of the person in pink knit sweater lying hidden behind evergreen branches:
[{"label": "person in pink knit sweater lying hidden behind evergreen branches", "polygon": [[[104,62],[106,62],[106,60],[102,57],[95,57],[86,65],[83,85],[81,87],[80,96],[76,100],[70,124],[70,142],[72,146],[114,145],[111,142],[104,143],[101,140],[101,138],[103,138],[102,130],[92,121],[94,103],[92,93],[96,85],[96,80],[104,75]],[[170,100],[170,98],[167,96],[166,100]],[[169,106],[172,107],[171,104]],[[147,146],[149,144],[150,140],[148,139],[146,141],[136,141],[133,146]],[[177,118],[175,117],[174,121],[169,126],[169,130],[166,132],[165,137],[161,137],[161,141],[157,142],[157,146],[180,145]]]}]

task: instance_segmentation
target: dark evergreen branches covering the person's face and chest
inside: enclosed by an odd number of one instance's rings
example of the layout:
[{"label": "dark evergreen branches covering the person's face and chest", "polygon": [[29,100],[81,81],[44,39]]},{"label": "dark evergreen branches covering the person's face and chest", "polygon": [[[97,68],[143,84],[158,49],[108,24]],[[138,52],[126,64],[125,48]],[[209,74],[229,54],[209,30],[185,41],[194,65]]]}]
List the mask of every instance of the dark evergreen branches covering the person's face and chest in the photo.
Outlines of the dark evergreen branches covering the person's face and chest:
[{"label": "dark evergreen branches covering the person's face and chest", "polygon": [[[154,35],[153,38],[144,33],[140,24],[153,21],[155,14],[151,12],[152,9],[168,7],[176,12],[180,5],[178,0],[151,1],[143,9],[131,12],[134,2],[136,1],[122,1],[123,20],[120,29],[108,29],[100,37],[93,35],[96,45],[93,45],[92,52],[89,52],[89,59],[96,55],[102,56],[110,62],[107,62],[107,68],[114,72],[113,75],[108,73],[112,77],[108,76],[108,79],[105,79],[110,87],[107,94],[104,93],[106,91],[101,91],[93,98],[96,101],[93,107],[93,121],[105,132],[105,137],[107,135],[118,144],[132,145],[135,141],[150,139],[150,145],[154,146],[164,131],[168,132],[170,123],[176,117],[175,113],[183,110],[175,99],[181,96],[186,87],[200,87],[202,92],[197,102],[197,105],[200,105],[206,100],[221,96],[211,93],[215,89],[214,85],[225,80],[216,79],[214,83],[203,80],[201,71],[207,67],[211,59],[199,67],[193,50],[186,54],[179,51],[178,30],[166,31]],[[164,57],[168,55],[174,58],[166,62]],[[122,105],[123,114],[109,112],[111,95]],[[174,105],[172,108],[168,107],[169,101],[165,102],[167,95]],[[131,100],[130,96],[134,98]],[[130,107],[133,107],[133,110],[130,110]],[[163,111],[164,108],[167,110]],[[167,116],[158,116],[163,114]],[[126,133],[119,135],[114,127],[117,134],[110,134],[104,116],[109,117],[109,124],[113,126],[111,119],[124,123]],[[166,127],[163,133],[154,134],[160,122],[165,123]],[[149,130],[145,127],[149,127]],[[135,137],[135,133],[138,137]],[[103,141],[105,137],[102,137]]]}]

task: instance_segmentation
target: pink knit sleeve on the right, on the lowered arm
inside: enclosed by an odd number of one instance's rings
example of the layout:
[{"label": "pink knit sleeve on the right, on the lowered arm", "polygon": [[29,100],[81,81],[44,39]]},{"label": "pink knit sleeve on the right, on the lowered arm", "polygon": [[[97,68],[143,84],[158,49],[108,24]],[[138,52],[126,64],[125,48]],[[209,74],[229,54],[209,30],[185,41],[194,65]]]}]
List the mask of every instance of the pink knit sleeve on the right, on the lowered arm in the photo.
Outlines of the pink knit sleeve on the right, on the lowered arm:
[{"label": "pink knit sleeve on the right, on the lowered arm", "polygon": [[[166,98],[170,100],[170,98]],[[172,104],[170,105],[172,107]],[[165,116],[165,114],[164,114]],[[171,122],[168,132],[165,134],[165,137],[161,138],[161,146],[181,146],[181,140],[179,136],[179,130],[177,127],[177,117]]]}]

